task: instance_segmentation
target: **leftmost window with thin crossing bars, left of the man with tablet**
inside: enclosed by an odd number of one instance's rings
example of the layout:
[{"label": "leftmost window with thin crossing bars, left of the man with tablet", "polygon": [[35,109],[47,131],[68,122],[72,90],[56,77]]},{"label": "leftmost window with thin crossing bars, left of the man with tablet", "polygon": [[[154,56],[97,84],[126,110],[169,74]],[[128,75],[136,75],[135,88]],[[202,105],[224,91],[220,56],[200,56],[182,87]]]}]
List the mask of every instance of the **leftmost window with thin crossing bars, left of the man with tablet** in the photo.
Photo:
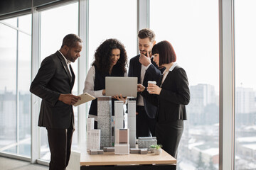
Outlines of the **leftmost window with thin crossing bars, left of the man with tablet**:
[{"label": "leftmost window with thin crossing bars, left of the man with tablet", "polygon": [[0,152],[31,157],[31,15],[0,22]]}]

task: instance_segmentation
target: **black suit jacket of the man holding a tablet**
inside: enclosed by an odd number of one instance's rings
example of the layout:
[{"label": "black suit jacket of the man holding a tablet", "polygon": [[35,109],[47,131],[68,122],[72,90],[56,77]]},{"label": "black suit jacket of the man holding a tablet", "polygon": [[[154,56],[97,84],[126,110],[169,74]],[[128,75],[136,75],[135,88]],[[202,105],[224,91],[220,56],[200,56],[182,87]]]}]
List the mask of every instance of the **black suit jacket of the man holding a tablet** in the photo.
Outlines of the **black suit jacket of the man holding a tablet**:
[{"label": "black suit jacket of the man holding a tablet", "polygon": [[42,98],[38,126],[67,129],[72,122],[74,127],[73,106],[58,101],[60,94],[71,94],[75,81],[71,67],[70,72],[59,51],[41,63],[30,88],[31,93]]}]

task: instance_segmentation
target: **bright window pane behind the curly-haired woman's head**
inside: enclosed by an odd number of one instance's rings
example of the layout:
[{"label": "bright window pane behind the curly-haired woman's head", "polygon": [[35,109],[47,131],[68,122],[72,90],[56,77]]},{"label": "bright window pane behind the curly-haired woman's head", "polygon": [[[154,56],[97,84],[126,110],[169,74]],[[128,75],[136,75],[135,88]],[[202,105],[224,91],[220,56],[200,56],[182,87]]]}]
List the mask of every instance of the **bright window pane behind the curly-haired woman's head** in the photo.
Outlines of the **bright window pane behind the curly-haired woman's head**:
[{"label": "bright window pane behind the curly-haired woman's head", "polygon": [[137,1],[93,0],[89,5],[89,66],[97,47],[108,38],[122,42],[128,58],[137,55]]}]

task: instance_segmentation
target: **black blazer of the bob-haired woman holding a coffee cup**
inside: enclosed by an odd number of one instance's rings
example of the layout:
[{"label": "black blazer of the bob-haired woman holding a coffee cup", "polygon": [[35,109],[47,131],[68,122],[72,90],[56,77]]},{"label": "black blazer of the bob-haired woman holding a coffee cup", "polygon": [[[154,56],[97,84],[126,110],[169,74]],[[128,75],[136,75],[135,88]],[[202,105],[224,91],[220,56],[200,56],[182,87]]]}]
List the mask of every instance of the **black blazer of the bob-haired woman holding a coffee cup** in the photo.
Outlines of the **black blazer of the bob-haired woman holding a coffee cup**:
[{"label": "black blazer of the bob-haired woman holding a coffee cup", "polygon": [[[149,67],[146,72],[156,72],[157,69]],[[157,85],[161,85],[163,74]],[[161,86],[161,93],[159,95],[149,94],[146,89],[142,92],[142,96],[146,98],[154,106],[159,107],[157,112],[157,122],[169,123],[175,120],[186,120],[186,107],[190,101],[190,91],[188,88],[188,78],[186,72],[181,67],[174,67],[169,72],[164,83]]]}]

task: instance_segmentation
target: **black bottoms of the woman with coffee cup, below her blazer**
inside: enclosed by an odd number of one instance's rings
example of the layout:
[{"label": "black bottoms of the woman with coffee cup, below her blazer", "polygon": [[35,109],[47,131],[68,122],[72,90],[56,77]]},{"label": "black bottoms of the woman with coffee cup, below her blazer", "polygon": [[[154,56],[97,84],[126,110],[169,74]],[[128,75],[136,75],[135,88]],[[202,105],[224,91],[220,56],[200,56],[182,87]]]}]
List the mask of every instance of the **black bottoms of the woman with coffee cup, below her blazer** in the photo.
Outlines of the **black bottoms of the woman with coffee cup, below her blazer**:
[{"label": "black bottoms of the woman with coffee cup, below her blazer", "polygon": [[157,144],[163,145],[163,149],[177,159],[178,144],[183,133],[183,120],[171,123],[156,123]]}]

